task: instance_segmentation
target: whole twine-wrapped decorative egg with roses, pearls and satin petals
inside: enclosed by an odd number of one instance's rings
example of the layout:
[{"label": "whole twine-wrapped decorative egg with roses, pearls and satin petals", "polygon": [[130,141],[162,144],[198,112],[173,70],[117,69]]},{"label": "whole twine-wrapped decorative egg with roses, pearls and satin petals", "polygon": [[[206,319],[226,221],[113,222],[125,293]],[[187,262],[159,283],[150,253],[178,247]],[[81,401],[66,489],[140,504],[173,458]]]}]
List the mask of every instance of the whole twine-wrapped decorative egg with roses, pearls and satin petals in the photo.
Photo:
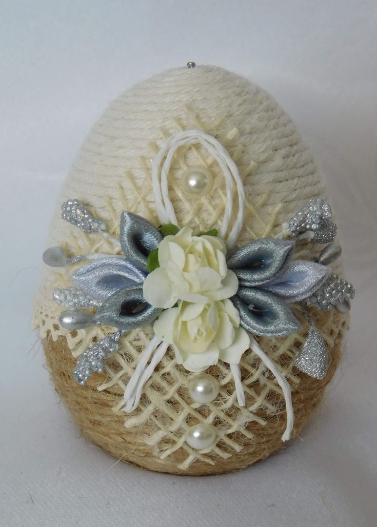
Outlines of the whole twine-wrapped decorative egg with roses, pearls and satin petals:
[{"label": "whole twine-wrapped decorative egg with roses, pearls and satin petals", "polygon": [[172,474],[282,450],[340,360],[351,284],[312,154],[215,66],[111,102],[63,185],[35,308],[83,434]]}]

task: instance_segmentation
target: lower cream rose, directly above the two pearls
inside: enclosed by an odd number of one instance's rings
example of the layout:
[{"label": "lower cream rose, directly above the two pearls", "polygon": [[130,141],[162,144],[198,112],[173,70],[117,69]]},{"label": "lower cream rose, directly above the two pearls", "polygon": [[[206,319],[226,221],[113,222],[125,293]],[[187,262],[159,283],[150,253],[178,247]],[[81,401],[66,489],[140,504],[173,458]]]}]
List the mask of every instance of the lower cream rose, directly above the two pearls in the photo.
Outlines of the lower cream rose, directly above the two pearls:
[{"label": "lower cream rose, directly above the two pearls", "polygon": [[238,364],[250,345],[229,299],[207,304],[179,301],[178,307],[162,311],[153,330],[173,347],[177,363],[190,372],[201,372],[219,359]]}]

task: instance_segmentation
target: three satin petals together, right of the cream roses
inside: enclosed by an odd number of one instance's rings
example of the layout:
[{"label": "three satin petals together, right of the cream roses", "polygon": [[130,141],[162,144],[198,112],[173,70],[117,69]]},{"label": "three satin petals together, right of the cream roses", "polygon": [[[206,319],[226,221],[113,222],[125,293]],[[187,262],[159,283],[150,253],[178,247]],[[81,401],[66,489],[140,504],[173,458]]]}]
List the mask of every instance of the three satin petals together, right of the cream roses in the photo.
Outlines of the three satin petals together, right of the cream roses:
[{"label": "three satin petals together, right of the cream roses", "polygon": [[255,335],[279,337],[301,326],[290,304],[310,297],[331,269],[310,260],[292,260],[295,242],[263,238],[228,255],[239,288],[231,300],[241,326]]}]

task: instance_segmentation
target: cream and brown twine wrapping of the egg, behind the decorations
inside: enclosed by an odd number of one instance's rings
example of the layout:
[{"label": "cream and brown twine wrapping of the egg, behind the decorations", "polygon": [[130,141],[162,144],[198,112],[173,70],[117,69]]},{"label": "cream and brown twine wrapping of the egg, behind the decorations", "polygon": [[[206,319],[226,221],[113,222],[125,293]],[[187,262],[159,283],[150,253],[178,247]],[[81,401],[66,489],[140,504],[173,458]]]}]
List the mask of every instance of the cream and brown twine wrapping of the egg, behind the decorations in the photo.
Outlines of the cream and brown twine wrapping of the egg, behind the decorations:
[{"label": "cream and brown twine wrapping of the egg, behind the decorations", "polygon": [[[274,237],[282,223],[309,198],[324,195],[312,155],[272,97],[233,73],[201,66],[153,77],[111,103],[84,141],[59,205],[69,198],[80,199],[107,222],[114,236],[119,235],[122,210],[136,212],[157,225],[151,159],[168,136],[192,128],[216,136],[243,178],[246,218],[238,246],[252,239]],[[200,199],[186,194],[179,184],[186,168],[197,164],[215,176],[210,194]],[[189,225],[196,232],[219,227],[225,184],[208,152],[195,146],[178,151],[170,171],[170,197],[180,225]],[[60,206],[54,214],[48,245],[61,245],[70,255],[116,252],[100,235],[86,235],[63,222]],[[305,249],[299,245],[298,256]],[[125,414],[121,410],[124,388],[152,337],[151,326],[122,337],[121,348],[109,358],[105,372],[93,375],[84,387],[75,384],[74,357],[93,341],[112,333],[113,328],[69,332],[59,326],[61,308],[51,300],[51,291],[69,286],[73,269],[44,270],[34,315],[56,390],[86,436],[122,461],[149,470],[191,475],[240,469],[284,446],[281,436],[286,416],[281,389],[251,351],[244,354],[240,364],[245,408],[238,407],[229,368],[221,362],[208,370],[220,381],[217,399],[208,405],[193,402],[187,391],[192,374],[176,364],[169,350],[144,388],[139,407]],[[312,315],[331,356],[330,370],[322,381],[293,366],[307,335],[305,321],[295,335],[260,339],[292,387],[293,436],[321,401],[339,363],[347,325],[347,317],[335,311],[312,311]],[[216,426],[218,442],[207,451],[192,450],[184,440],[187,428],[198,422]]]}]

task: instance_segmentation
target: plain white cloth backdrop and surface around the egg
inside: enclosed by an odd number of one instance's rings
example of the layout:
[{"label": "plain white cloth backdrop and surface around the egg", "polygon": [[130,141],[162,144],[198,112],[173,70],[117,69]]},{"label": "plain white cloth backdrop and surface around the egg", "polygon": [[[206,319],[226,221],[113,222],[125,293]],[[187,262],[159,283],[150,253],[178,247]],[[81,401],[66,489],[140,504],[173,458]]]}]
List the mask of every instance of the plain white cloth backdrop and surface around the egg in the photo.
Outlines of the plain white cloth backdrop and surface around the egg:
[{"label": "plain white cloth backdrop and surface around the egg", "polygon": [[[0,523],[356,527],[377,518],[375,2],[1,2]],[[57,192],[108,100],[187,61],[271,92],[311,144],[356,287],[343,362],[284,453],[235,474],[116,463],[42,368],[31,304]]]}]

